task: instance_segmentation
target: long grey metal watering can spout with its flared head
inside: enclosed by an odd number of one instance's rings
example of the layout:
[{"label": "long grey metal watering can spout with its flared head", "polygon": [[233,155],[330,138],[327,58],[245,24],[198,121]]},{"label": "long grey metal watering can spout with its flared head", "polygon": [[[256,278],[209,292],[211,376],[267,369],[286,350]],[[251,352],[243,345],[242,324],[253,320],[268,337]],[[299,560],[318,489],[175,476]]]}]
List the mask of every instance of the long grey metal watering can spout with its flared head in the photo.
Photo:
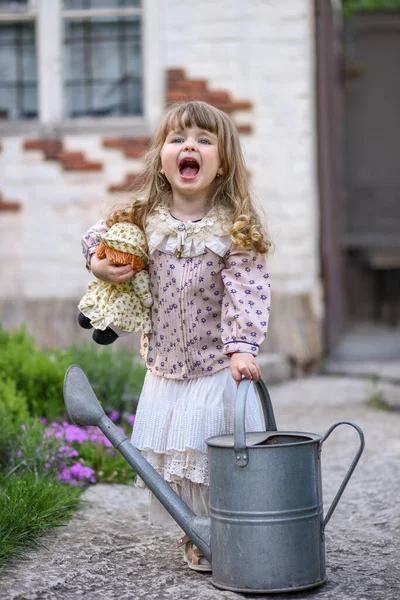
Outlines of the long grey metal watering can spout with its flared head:
[{"label": "long grey metal watering can spout with its flared head", "polygon": [[65,374],[64,401],[72,422],[81,427],[99,427],[193,543],[211,561],[210,519],[197,517],[131,444],[126,435],[107,417],[88,378],[78,365],[69,367]]}]

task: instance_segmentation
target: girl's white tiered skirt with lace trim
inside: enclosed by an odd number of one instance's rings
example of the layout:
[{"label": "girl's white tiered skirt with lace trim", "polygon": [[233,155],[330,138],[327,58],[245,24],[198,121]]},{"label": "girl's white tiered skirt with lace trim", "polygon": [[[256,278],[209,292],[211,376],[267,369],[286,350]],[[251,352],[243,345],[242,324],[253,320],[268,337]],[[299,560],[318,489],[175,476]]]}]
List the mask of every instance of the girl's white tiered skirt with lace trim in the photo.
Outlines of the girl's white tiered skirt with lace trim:
[{"label": "girl's white tiered skirt with lace trim", "polygon": [[[147,372],[136,413],[133,445],[199,516],[208,515],[208,460],[205,440],[232,433],[236,383],[230,369],[190,380]],[[246,402],[246,431],[263,429],[255,392]],[[138,478],[137,485],[145,487]],[[153,524],[169,521],[151,495]]]}]

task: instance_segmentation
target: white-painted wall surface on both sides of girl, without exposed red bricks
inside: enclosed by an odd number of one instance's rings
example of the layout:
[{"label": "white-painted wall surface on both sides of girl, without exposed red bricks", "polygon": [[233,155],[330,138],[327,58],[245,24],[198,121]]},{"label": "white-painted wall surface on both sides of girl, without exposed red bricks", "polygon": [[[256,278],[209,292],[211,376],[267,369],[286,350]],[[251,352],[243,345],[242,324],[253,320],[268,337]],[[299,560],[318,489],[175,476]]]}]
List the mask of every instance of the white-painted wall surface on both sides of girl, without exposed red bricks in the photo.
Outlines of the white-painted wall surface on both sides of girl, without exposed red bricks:
[{"label": "white-painted wall surface on both sides of girl, without exposed red bricks", "polygon": [[[242,140],[276,247],[270,263],[274,289],[315,295],[320,284],[313,1],[157,0],[157,18],[149,18],[154,17],[149,4],[146,0],[150,121],[163,94],[154,73],[166,68],[184,68],[189,78],[207,79],[211,89],[253,103],[253,110],[235,118],[254,128]],[[117,200],[108,185],[138,171],[140,162],[103,149],[97,134],[77,133],[64,138],[66,149],[83,151],[105,167],[100,173],[67,173],[57,162],[44,162],[40,152],[22,151],[29,137],[35,136],[2,139],[0,192],[21,201],[23,210],[0,213],[5,275],[0,299],[76,299],[89,281],[81,235]]]}]

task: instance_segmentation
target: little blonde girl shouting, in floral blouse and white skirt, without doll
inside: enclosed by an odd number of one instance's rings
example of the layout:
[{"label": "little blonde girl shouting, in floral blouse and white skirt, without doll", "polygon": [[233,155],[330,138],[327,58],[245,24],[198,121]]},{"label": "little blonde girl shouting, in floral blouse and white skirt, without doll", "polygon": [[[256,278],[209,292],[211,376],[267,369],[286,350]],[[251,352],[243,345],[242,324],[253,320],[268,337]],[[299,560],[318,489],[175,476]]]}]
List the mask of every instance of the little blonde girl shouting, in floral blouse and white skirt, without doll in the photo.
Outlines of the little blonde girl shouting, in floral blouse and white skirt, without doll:
[{"label": "little blonde girl shouting, in floral blouse and white skirt, without doll", "polygon": [[[260,378],[256,356],[270,310],[270,243],[225,113],[204,102],[167,109],[129,209],[84,236],[87,266],[102,281],[133,275],[131,266],[95,254],[107,228],[126,220],[146,232],[153,297],[132,443],[197,515],[208,516],[205,440],[232,432],[236,385]],[[255,395],[247,401],[246,429],[262,429]],[[165,516],[151,495],[152,522]],[[211,570],[187,536],[181,542],[192,569]]]}]

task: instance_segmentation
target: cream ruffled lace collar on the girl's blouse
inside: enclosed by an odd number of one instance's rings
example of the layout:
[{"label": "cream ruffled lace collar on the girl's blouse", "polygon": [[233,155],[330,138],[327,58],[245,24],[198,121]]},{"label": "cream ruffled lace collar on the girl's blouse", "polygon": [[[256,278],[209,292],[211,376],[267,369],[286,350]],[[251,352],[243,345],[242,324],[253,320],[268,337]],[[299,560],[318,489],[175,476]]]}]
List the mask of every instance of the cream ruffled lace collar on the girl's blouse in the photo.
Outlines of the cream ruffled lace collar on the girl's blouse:
[{"label": "cream ruffled lace collar on the girl's blouse", "polygon": [[211,209],[200,221],[179,221],[160,204],[147,220],[146,233],[149,254],[160,250],[178,257],[198,256],[206,248],[225,256],[232,245],[229,231],[232,218],[225,208]]}]

